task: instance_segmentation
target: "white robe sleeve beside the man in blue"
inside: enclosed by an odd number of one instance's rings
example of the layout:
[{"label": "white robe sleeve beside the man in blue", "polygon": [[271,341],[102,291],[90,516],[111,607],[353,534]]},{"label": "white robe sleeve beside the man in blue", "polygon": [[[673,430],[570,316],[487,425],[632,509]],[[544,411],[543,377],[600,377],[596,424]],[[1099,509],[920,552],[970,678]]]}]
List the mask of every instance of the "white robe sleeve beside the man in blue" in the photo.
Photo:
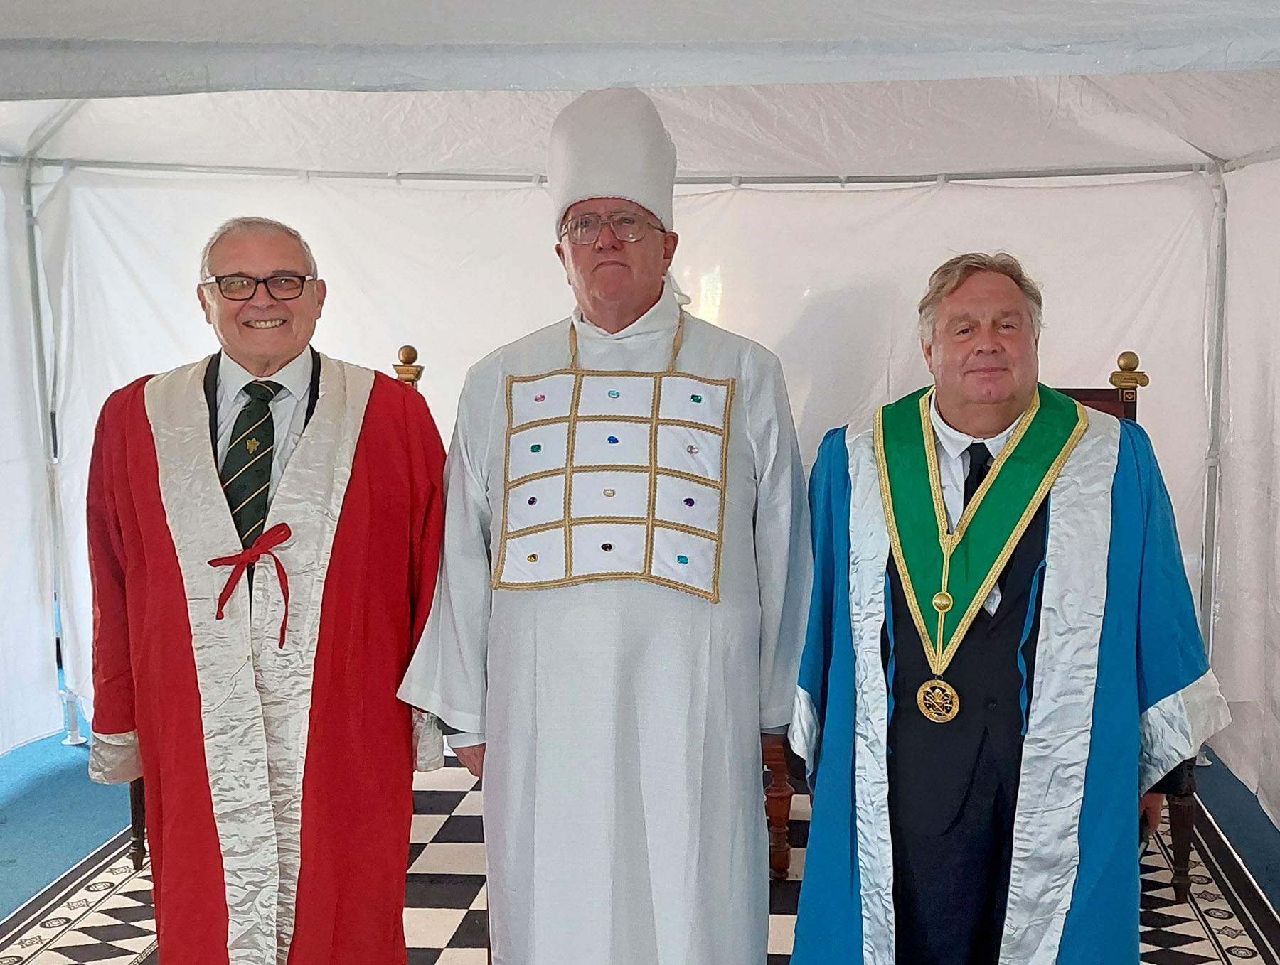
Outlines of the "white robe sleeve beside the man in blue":
[{"label": "white robe sleeve beside the man in blue", "polygon": [[809,502],[782,365],[772,353],[745,387],[755,454],[755,567],[760,584],[760,728],[791,722],[813,553]]}]

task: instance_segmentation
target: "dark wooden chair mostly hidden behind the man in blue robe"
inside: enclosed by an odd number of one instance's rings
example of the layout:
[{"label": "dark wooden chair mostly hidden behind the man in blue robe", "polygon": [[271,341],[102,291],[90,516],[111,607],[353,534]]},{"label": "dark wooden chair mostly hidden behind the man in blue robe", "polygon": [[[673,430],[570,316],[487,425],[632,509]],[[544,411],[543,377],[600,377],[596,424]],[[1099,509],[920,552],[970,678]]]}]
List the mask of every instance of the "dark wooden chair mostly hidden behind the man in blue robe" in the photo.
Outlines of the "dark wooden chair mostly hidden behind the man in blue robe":
[{"label": "dark wooden chair mostly hidden behind the man in blue robe", "polygon": [[[1119,366],[1111,372],[1111,388],[1060,389],[1076,402],[1089,408],[1107,412],[1117,419],[1138,419],[1138,389],[1149,379],[1138,370],[1138,356],[1123,352],[1116,360]],[[771,783],[764,791],[764,810],[769,822],[769,875],[774,881],[787,877],[791,865],[791,845],[787,829],[791,818],[791,797],[800,787],[808,794],[804,778],[804,764],[783,741],[765,742],[764,764],[769,770]],[[1169,824],[1172,836],[1172,884],[1179,901],[1187,901],[1190,893],[1190,846],[1192,823],[1194,818],[1196,770],[1194,760],[1180,764],[1171,774],[1162,778],[1152,790],[1169,797]],[[1135,802],[1137,804],[1137,802]]]}]

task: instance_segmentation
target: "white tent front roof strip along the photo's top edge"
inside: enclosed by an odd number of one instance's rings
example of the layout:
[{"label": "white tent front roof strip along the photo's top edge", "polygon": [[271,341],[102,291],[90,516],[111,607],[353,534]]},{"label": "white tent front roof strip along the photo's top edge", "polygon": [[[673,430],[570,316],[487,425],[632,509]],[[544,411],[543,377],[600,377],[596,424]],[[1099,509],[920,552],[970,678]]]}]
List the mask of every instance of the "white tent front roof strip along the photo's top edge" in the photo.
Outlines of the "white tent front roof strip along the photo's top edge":
[{"label": "white tent front roof strip along the photo's top edge", "polygon": [[564,90],[1280,65],[1274,0],[44,0],[9,4],[0,97]]}]

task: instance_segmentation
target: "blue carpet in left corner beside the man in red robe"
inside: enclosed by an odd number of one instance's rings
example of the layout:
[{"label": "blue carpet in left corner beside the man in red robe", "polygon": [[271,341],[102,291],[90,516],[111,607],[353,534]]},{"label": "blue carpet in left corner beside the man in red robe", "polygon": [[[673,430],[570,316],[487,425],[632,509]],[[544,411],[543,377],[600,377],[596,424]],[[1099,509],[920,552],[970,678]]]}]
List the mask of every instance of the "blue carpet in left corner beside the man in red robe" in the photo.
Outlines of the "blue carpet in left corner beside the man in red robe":
[{"label": "blue carpet in left corner beside the man in red robe", "polygon": [[129,788],[92,783],[88,745],[61,738],[0,758],[0,920],[129,823]]}]

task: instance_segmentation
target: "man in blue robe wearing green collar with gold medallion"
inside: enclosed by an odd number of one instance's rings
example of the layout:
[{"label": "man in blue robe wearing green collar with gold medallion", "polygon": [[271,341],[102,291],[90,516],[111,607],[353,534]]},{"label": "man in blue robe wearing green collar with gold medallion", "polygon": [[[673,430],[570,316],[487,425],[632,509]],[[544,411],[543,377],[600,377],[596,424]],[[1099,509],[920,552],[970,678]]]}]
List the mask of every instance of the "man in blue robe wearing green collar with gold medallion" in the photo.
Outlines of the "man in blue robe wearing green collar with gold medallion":
[{"label": "man in blue robe wearing green collar with gold medallion", "polygon": [[1039,321],[950,260],[933,388],[819,448],[792,965],[1138,961],[1135,805],[1229,717],[1151,442],[1038,385]]}]

